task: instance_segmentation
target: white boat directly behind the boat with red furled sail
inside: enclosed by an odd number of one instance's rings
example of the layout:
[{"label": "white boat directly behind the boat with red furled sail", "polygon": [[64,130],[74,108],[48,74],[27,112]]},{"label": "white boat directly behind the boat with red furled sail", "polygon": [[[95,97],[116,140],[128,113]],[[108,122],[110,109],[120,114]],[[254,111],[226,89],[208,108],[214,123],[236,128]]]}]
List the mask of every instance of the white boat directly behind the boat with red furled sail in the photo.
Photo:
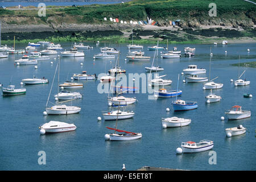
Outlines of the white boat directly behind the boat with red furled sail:
[{"label": "white boat directly behind the boat with red furled sail", "polygon": [[134,116],[134,112],[131,111],[120,111],[120,110],[115,110],[115,111],[110,111],[108,113],[103,114],[103,117],[105,120],[115,120],[115,119],[129,119]]}]

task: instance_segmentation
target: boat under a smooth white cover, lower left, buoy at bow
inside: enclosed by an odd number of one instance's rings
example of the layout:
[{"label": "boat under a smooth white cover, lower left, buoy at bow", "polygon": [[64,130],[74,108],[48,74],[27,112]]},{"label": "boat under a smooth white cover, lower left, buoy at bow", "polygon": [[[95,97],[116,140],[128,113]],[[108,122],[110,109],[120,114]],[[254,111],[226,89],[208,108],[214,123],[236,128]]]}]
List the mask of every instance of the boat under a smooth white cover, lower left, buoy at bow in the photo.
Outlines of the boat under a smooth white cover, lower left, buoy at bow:
[{"label": "boat under a smooth white cover, lower left, buoy at bow", "polygon": [[50,121],[41,125],[39,129],[41,134],[63,133],[76,130],[76,126],[74,124],[64,123],[60,121]]}]

